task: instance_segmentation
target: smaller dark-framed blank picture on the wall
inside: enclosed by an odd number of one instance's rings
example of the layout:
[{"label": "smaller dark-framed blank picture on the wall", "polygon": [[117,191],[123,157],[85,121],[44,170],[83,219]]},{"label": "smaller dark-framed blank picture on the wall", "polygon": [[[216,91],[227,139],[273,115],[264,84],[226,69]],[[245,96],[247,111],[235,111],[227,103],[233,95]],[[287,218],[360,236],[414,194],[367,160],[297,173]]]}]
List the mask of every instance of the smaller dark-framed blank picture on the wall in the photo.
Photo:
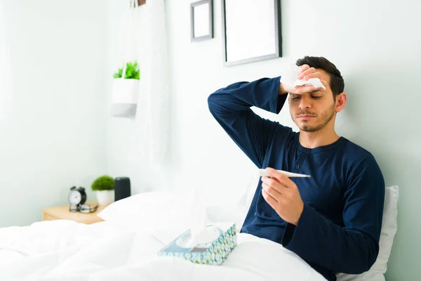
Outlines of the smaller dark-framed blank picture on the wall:
[{"label": "smaller dark-framed blank picture on the wall", "polygon": [[191,41],[213,38],[213,0],[190,4]]}]

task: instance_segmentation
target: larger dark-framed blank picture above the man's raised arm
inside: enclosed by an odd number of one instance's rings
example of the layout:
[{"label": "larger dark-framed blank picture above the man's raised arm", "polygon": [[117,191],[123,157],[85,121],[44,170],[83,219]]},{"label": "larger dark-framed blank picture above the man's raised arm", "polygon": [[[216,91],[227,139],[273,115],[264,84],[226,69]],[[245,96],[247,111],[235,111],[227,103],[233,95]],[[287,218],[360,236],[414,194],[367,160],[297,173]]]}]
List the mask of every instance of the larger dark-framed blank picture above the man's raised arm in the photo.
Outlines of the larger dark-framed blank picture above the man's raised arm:
[{"label": "larger dark-framed blank picture above the man's raised arm", "polygon": [[224,65],[279,58],[281,0],[222,0]]}]

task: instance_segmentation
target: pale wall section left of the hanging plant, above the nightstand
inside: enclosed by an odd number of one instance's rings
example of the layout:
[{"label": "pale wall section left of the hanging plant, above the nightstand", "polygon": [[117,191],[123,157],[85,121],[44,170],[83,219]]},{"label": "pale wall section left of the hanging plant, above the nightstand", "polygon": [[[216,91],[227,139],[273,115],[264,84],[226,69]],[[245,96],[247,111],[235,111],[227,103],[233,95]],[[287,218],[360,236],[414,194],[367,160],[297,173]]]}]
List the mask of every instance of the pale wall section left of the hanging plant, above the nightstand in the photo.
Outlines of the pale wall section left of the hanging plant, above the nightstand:
[{"label": "pale wall section left of the hanging plant, above the nightstand", "polygon": [[[13,108],[0,126],[0,226],[41,221],[105,173],[106,6],[4,0]],[[9,97],[10,98],[10,97]]]}]

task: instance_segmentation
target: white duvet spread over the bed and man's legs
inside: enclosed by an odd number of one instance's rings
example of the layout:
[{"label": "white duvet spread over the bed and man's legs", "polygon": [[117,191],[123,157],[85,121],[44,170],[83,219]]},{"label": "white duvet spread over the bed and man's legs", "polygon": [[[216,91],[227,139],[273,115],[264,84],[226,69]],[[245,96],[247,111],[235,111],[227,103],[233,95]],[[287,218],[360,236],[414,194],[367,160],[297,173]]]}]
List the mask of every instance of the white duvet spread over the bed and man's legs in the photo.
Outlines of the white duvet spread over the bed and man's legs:
[{"label": "white duvet spread over the bed and man's legs", "polygon": [[2,228],[0,280],[325,280],[280,244],[242,233],[221,266],[157,256],[174,233],[65,220]]}]

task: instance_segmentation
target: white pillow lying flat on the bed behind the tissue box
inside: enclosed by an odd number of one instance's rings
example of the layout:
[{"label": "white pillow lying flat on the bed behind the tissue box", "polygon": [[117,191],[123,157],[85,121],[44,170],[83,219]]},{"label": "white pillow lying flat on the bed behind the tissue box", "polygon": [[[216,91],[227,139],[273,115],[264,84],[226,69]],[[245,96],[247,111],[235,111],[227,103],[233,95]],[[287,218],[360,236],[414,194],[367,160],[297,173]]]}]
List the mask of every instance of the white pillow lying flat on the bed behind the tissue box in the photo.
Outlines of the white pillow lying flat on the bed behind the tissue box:
[{"label": "white pillow lying flat on the bed behind the tissue box", "polygon": [[98,216],[132,231],[154,234],[159,230],[182,231],[206,223],[203,199],[192,191],[142,192],[112,202]]}]

